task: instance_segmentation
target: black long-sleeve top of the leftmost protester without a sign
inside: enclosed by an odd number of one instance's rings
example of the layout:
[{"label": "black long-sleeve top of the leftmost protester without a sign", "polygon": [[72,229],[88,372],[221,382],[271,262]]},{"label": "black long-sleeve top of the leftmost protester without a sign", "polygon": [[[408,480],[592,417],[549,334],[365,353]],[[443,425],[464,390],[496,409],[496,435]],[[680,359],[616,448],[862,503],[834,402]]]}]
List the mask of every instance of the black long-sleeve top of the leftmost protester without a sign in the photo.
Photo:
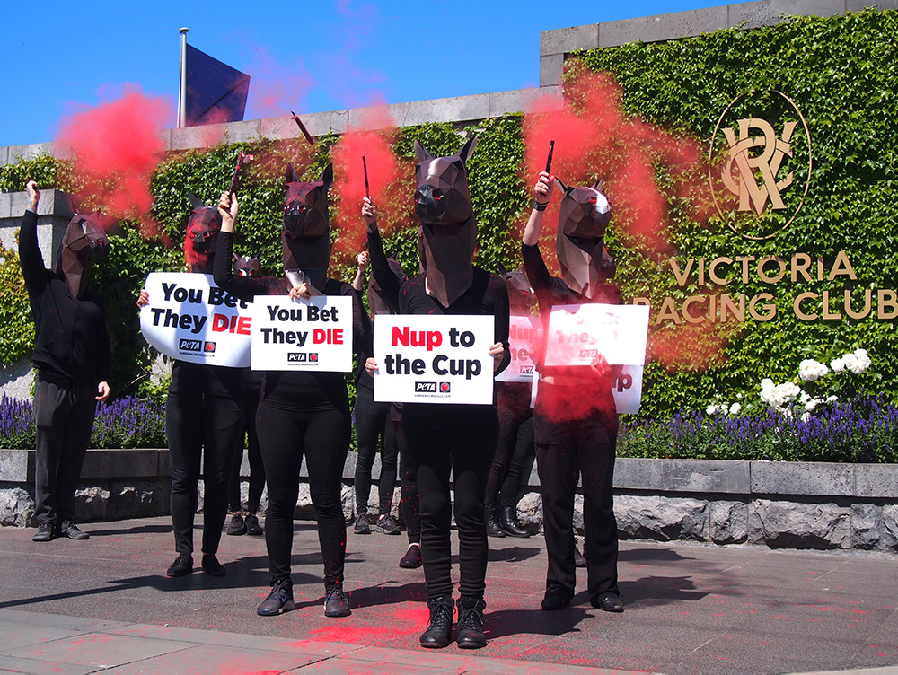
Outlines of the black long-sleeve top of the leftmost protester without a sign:
[{"label": "black long-sleeve top of the leftmost protester without a sign", "polygon": [[112,349],[100,295],[76,298],[62,275],[44,267],[38,246],[38,215],[25,211],[19,260],[34,317],[31,363],[43,378],[61,384],[110,380]]}]

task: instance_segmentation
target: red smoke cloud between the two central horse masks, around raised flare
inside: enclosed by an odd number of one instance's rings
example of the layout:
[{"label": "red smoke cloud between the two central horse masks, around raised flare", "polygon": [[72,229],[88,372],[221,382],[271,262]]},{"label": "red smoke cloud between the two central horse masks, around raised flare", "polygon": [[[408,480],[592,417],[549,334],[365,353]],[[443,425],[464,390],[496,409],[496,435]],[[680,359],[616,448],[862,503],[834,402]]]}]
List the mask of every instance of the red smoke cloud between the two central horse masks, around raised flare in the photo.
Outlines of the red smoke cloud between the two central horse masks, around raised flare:
[{"label": "red smoke cloud between the two central horse masks, around raised flare", "polygon": [[410,175],[414,166],[400,162],[393,153],[397,126],[386,106],[367,112],[357,129],[350,129],[333,148],[335,225],[339,237],[334,254],[341,262],[355,259],[365,248],[365,221],[362,198],[365,197],[365,175],[362,157],[368,168],[368,187],[377,207],[377,225],[388,237],[409,225]]}]

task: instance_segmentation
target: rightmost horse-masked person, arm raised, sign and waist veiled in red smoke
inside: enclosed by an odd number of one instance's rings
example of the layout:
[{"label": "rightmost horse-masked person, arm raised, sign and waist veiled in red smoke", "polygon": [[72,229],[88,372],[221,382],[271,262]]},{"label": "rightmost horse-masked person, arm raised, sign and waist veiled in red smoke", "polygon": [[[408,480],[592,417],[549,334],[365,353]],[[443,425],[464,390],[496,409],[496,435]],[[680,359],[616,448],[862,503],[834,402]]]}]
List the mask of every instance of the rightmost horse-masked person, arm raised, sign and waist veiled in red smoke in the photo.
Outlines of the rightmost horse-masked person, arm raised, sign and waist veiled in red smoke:
[{"label": "rightmost horse-masked person, arm raised, sign and waist veiled in red smoke", "polygon": [[[587,588],[593,607],[623,611],[617,578],[617,523],[612,481],[618,417],[612,398],[616,370],[602,355],[593,364],[545,365],[554,305],[621,304],[621,292],[606,282],[603,267],[608,199],[598,184],[564,190],[557,250],[562,277],[550,276],[538,246],[542,216],[552,195],[548,171],[534,188],[533,211],[524,228],[524,268],[540,305],[543,331],[537,354],[539,389],[533,412],[536,461],[542,486],[543,527],[549,571],[542,609],[562,609],[574,597],[576,568],[572,513],[578,474],[583,477]],[[618,368],[619,370],[619,368]]]}]

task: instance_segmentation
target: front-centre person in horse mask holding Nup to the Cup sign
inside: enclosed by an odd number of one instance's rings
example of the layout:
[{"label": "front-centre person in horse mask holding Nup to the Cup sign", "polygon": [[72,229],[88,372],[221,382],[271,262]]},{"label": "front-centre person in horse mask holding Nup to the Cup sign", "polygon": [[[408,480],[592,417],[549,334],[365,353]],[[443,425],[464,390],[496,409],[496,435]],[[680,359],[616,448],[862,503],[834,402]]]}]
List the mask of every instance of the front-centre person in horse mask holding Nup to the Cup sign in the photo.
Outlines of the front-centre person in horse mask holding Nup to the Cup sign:
[{"label": "front-centre person in horse mask holding Nup to the Cup sign", "polygon": [[[421,223],[425,271],[401,287],[401,314],[493,317],[489,355],[493,371],[506,367],[508,291],[496,275],[474,267],[477,227],[465,162],[476,137],[451,157],[434,157],[415,141],[415,208]],[[480,365],[480,362],[478,362]],[[378,369],[374,358],[365,364]],[[384,370],[389,364],[384,364]],[[459,538],[458,646],[486,646],[483,601],[489,544],[484,492],[498,439],[495,395],[491,404],[406,403],[402,427],[418,470],[421,549],[430,622],[422,647],[445,647],[452,639],[450,472],[454,476],[455,524]]]}]

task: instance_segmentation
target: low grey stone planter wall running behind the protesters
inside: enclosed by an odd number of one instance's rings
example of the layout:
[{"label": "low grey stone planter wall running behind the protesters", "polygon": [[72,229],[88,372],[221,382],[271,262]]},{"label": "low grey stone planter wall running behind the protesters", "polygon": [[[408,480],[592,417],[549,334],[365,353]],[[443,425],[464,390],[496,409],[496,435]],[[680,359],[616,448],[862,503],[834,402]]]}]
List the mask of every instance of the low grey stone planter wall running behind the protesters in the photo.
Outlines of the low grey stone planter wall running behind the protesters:
[{"label": "low grey stone planter wall running behind the protesters", "polygon": [[[343,471],[343,513],[353,517],[356,454]],[[369,513],[377,511],[380,457]],[[168,513],[167,450],[88,451],[77,492],[82,522]],[[249,464],[241,469],[247,494]],[[305,466],[295,517],[313,520]],[[34,452],[0,451],[0,524],[25,527],[34,513]],[[770,548],[898,553],[898,465],[715,460],[617,460],[614,511],[621,539],[759,544]],[[200,495],[202,490],[200,489]],[[399,516],[399,487],[393,514]],[[202,508],[202,501],[199,501]],[[262,510],[266,505],[262,496]],[[518,517],[541,529],[539,478],[522,486]],[[583,496],[575,499],[583,527]]]}]

